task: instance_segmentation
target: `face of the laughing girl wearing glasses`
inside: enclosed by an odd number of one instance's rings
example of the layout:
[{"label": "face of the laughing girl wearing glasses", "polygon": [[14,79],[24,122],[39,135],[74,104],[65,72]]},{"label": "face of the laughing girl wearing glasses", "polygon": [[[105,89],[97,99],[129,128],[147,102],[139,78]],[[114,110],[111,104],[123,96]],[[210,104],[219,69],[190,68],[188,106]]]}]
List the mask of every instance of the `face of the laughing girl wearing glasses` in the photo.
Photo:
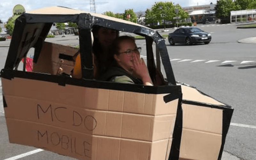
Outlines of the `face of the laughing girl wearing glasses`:
[{"label": "face of the laughing girl wearing glasses", "polygon": [[133,54],[140,54],[131,52],[131,54],[125,53],[126,51],[132,51],[137,49],[137,46],[133,40],[124,40],[119,43],[119,55],[114,55],[114,58],[116,59],[117,64],[124,68],[126,71],[132,72],[133,68]]}]

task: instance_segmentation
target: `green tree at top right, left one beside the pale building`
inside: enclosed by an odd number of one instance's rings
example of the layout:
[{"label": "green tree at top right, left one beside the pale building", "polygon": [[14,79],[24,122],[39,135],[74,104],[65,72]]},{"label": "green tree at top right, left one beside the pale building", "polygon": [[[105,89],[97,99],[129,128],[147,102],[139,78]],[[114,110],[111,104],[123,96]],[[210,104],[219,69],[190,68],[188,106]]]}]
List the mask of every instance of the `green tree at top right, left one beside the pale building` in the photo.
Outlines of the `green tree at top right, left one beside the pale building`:
[{"label": "green tree at top right, left one beside the pale building", "polygon": [[236,11],[238,8],[232,0],[219,0],[215,6],[215,14],[222,23],[230,23],[230,11]]}]

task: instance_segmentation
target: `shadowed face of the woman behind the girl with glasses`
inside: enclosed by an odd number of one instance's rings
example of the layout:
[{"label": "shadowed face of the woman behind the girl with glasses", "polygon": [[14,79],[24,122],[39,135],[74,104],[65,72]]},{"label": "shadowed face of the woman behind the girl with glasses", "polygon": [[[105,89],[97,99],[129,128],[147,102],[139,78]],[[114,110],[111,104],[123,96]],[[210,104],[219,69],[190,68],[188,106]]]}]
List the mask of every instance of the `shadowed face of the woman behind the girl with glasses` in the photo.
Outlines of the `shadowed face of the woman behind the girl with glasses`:
[{"label": "shadowed face of the woman behind the girl with glasses", "polygon": [[104,48],[108,48],[113,43],[114,39],[116,39],[116,37],[116,30],[100,27],[98,31],[99,42]]}]

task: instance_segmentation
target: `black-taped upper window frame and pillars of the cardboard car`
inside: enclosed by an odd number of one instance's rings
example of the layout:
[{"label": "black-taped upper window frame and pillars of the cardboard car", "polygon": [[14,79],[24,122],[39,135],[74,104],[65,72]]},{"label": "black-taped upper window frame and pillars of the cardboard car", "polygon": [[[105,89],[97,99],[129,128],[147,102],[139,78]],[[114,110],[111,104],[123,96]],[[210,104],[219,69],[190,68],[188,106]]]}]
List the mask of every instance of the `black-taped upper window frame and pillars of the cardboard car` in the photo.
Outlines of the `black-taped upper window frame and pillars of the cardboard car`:
[{"label": "black-taped upper window frame and pillars of the cardboard car", "polygon": [[[91,40],[91,35],[90,31],[92,30],[94,25],[98,25],[101,27],[106,27],[110,29],[116,29],[119,31],[125,31],[129,33],[135,33],[141,36],[145,36],[146,38],[152,39],[155,43],[156,46],[158,47],[162,59],[162,63],[164,65],[165,73],[167,76],[168,83],[171,84],[176,84],[175,77],[172,71],[172,66],[170,63],[170,58],[165,46],[165,40],[164,38],[155,30],[141,26],[141,25],[132,25],[129,23],[124,23],[120,21],[115,21],[115,20],[108,20],[104,19],[102,17],[96,17],[93,16],[89,13],[80,13],[80,14],[75,14],[75,15],[70,15],[70,14],[65,14],[65,15],[44,15],[44,14],[30,14],[30,13],[23,13],[19,18],[16,20],[16,26],[14,26],[14,32],[13,32],[13,39],[15,41],[11,42],[10,44],[10,50],[9,54],[6,60],[6,64],[4,68],[12,69],[14,67],[17,67],[19,64],[21,58],[25,57],[28,49],[30,47],[35,47],[35,60],[36,62],[38,58],[38,53],[40,52],[40,47],[44,39],[46,38],[48,31],[49,31],[49,26],[50,24],[54,22],[75,22],[78,24],[79,28],[79,43],[81,47],[81,64],[82,64],[82,75],[86,79],[92,79],[92,60],[91,60],[91,52],[90,48],[92,47],[92,40]],[[42,26],[39,27],[38,29],[41,29],[41,32],[39,34],[34,33],[33,37],[28,39],[27,41],[30,42],[30,45],[32,46],[24,46],[22,45],[21,41],[22,39],[19,37],[22,37],[20,35],[25,34],[24,33],[24,28],[19,28],[20,23],[23,23],[23,27],[27,24],[43,24]],[[26,41],[26,42],[27,42]],[[26,43],[25,43],[26,44]],[[149,44],[147,44],[148,46]],[[26,47],[26,48],[24,48]],[[88,49],[89,48],[89,49]],[[19,54],[17,54],[17,50],[21,51]],[[152,57],[148,57],[151,58]],[[150,66],[154,66],[154,64],[149,64]]]}]

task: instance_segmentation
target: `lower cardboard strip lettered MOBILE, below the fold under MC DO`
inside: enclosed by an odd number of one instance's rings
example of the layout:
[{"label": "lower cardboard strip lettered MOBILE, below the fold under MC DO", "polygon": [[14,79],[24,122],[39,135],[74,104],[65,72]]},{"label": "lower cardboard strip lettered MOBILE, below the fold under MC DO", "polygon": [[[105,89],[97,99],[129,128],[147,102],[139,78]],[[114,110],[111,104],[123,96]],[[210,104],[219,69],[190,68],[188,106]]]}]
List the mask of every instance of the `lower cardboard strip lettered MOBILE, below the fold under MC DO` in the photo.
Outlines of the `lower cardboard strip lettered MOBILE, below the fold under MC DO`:
[{"label": "lower cardboard strip lettered MOBILE, below the fold under MC DO", "polygon": [[169,140],[148,142],[94,136],[11,118],[7,119],[7,125],[11,143],[35,146],[85,160],[165,159]]}]

